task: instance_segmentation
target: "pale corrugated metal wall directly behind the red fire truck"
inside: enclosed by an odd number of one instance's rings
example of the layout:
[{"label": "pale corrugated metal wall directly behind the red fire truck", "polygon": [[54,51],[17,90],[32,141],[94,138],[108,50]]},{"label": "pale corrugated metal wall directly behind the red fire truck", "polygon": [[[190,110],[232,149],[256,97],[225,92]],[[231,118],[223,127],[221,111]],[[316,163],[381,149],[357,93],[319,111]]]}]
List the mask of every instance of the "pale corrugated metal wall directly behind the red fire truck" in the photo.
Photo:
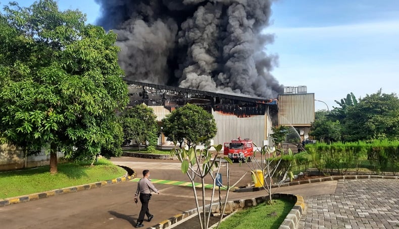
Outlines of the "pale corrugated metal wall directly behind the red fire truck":
[{"label": "pale corrugated metal wall directly behind the red fire truck", "polygon": [[227,115],[218,111],[212,111],[218,132],[214,138],[214,144],[223,144],[235,139],[251,138],[255,144],[262,146],[266,138],[267,115],[253,115],[251,117],[239,118],[235,115]]}]

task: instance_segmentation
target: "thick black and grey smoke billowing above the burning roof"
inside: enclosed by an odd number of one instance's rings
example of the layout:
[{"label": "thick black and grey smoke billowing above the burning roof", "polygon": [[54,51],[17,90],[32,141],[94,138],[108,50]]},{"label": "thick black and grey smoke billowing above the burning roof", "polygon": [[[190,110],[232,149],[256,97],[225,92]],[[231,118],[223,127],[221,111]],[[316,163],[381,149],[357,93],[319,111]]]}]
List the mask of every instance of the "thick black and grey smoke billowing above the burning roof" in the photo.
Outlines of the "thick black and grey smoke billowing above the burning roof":
[{"label": "thick black and grey smoke billowing above the burning roof", "polygon": [[272,0],[96,0],[127,80],[275,98]]}]

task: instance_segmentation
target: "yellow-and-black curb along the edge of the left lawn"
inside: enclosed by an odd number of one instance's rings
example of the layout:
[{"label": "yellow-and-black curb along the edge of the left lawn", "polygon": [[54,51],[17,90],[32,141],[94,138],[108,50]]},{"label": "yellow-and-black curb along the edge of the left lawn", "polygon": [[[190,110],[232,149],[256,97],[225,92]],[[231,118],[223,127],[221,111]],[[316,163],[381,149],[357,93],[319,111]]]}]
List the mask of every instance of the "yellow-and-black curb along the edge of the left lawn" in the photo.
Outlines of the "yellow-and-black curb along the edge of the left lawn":
[{"label": "yellow-and-black curb along the edge of the left lawn", "polygon": [[93,189],[93,188],[101,188],[106,185],[130,181],[130,180],[134,179],[136,177],[136,175],[137,174],[134,171],[134,173],[131,176],[128,176],[128,174],[126,173],[126,175],[123,177],[119,177],[119,178],[108,180],[108,181],[101,181],[101,182],[95,182],[95,183],[90,183],[90,184],[85,184],[85,185],[78,185],[78,186],[73,186],[73,187],[54,189],[54,190],[50,190],[50,191],[46,191],[46,192],[33,193],[33,194],[29,194],[29,195],[0,199],[0,207],[4,207],[4,206],[10,205],[10,204],[27,202],[27,201],[31,201],[31,200],[38,200],[38,199],[47,198],[50,196],[57,196],[57,195],[61,195],[61,194],[71,193],[71,192],[78,192],[78,191],[88,190],[88,189]]}]

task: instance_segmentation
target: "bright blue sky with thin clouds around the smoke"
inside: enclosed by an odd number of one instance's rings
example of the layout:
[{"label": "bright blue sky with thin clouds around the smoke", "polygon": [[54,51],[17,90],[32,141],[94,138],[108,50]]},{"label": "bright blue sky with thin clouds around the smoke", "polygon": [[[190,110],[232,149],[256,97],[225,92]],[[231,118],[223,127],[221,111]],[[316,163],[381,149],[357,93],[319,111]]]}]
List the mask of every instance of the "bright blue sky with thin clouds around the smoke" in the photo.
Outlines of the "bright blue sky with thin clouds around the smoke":
[{"label": "bright blue sky with thin clouds around the smoke", "polygon": [[[1,5],[8,1],[1,1]],[[29,6],[34,1],[17,1]],[[59,0],[61,10],[79,9],[94,24],[99,7],[94,0]],[[357,98],[398,93],[399,1],[279,0],[272,6],[275,34],[269,53],[279,55],[275,78],[284,86],[308,87],[315,99],[334,100],[353,92]],[[315,102],[316,110],[326,105]]]}]

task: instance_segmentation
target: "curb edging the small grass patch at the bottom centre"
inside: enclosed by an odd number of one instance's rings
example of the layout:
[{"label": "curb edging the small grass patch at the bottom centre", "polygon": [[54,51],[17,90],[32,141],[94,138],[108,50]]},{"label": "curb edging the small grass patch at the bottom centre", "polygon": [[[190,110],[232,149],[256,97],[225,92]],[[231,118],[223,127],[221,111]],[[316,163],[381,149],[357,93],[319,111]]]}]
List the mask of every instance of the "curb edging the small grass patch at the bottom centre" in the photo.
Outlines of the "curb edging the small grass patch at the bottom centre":
[{"label": "curb edging the small grass patch at the bottom centre", "polygon": [[[281,226],[283,227],[279,227],[279,228],[295,228],[295,226],[297,226],[302,213],[305,212],[305,201],[304,198],[302,196],[297,196],[297,195],[292,195],[292,194],[281,194],[281,193],[275,193],[272,194],[272,198],[280,198],[280,199],[289,199],[289,200],[294,200],[295,201],[295,205],[292,207],[291,211],[288,213],[288,215],[286,216],[286,218],[284,219],[283,223],[281,224]],[[232,200],[232,201],[228,201],[226,204],[226,209],[225,209],[225,213],[227,214],[231,214],[234,211],[238,210],[238,209],[244,209],[244,208],[248,208],[248,207],[254,207],[260,203],[264,203],[268,201],[268,196],[261,196],[261,197],[257,197],[257,198],[252,198],[252,199],[241,199],[241,200]],[[221,213],[219,211],[219,203],[214,203],[212,204],[212,207],[210,209],[210,205],[206,205],[205,206],[205,210],[209,211],[211,210],[212,213]],[[203,211],[203,208],[200,207],[199,211]],[[184,219],[186,219],[187,217],[196,214],[197,213],[197,209],[193,208],[191,210],[182,212],[180,214],[177,214],[169,219],[166,219],[160,223],[158,223],[157,225],[154,225],[152,227],[149,227],[151,229],[165,229],[168,228],[169,226],[180,222]],[[286,227],[289,226],[289,227]]]}]

